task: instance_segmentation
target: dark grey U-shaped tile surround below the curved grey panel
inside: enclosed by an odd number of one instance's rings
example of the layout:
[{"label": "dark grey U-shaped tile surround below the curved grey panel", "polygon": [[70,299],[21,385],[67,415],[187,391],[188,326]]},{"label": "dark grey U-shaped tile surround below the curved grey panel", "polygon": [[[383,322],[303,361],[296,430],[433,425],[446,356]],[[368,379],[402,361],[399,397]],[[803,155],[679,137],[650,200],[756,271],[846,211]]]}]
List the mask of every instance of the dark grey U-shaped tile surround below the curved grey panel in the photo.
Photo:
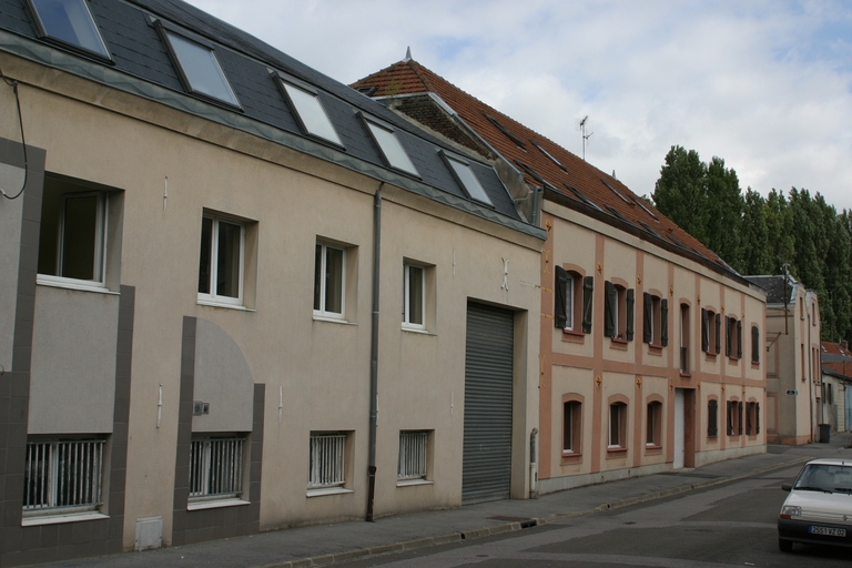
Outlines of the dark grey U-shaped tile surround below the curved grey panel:
[{"label": "dark grey U-shaped tile surround below the curved grey panel", "polygon": [[183,318],[181,352],[181,403],[178,418],[178,454],[174,470],[172,546],[252,535],[260,531],[261,463],[266,385],[254,385],[254,410],[250,448],[250,505],[217,509],[186,510],[190,498],[190,445],[192,443],[192,397],[195,383],[195,323]]}]

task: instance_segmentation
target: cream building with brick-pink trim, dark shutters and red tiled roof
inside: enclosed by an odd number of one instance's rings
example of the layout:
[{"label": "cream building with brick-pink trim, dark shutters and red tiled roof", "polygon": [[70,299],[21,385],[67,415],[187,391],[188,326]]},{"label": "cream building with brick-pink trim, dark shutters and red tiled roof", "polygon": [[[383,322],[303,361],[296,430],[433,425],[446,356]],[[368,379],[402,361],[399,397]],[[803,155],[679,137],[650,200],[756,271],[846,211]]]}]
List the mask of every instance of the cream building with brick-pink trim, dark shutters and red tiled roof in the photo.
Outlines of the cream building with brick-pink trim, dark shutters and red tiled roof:
[{"label": "cream building with brick-pink trim, dark shutters and red tiled roof", "polygon": [[540,491],[765,452],[760,288],[615,176],[408,57],[352,87],[490,160],[547,231],[525,284],[541,293]]}]

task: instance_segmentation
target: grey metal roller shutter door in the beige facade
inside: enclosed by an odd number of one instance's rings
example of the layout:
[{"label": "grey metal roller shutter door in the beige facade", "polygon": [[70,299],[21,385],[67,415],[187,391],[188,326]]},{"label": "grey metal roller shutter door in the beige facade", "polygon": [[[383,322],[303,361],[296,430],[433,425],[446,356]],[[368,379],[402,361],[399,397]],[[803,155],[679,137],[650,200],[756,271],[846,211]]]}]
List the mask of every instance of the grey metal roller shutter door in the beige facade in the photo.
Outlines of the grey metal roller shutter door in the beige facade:
[{"label": "grey metal roller shutter door in the beige facade", "polygon": [[467,305],[463,503],[508,499],[514,314]]}]

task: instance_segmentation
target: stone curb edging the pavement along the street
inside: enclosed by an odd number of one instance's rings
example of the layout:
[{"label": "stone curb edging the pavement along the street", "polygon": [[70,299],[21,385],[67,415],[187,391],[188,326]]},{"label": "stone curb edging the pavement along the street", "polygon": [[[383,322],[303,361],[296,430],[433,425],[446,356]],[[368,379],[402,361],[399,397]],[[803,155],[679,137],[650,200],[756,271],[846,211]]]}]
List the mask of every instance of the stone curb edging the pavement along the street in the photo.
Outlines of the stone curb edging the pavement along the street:
[{"label": "stone curb edging the pavement along the street", "polygon": [[[643,495],[637,495],[635,497],[628,497],[627,499],[620,499],[611,503],[602,503],[591,509],[574,511],[574,513],[561,513],[561,514],[555,513],[546,517],[532,518],[530,520],[534,521],[532,526],[540,527],[544,525],[560,523],[560,521],[577,518],[577,517],[584,517],[586,515],[591,515],[592,513],[620,509],[622,507],[629,507],[630,505],[636,505],[638,503],[646,503],[646,501],[651,501],[656,499],[662,499],[666,497],[670,497],[672,495],[679,495],[681,493],[693,491],[696,489],[704,489],[704,488],[713,487],[717,485],[724,485],[731,481],[737,481],[739,479],[744,479],[747,477],[753,477],[755,475],[765,474],[769,471],[775,471],[778,469],[785,469],[788,467],[793,467],[799,464],[804,464],[810,459],[813,459],[813,457],[805,456],[805,457],[792,459],[790,462],[784,462],[781,464],[772,464],[772,465],[759,467],[757,469],[752,469],[751,471],[748,471],[744,474],[732,475],[729,477],[719,477],[716,479],[708,479],[706,481],[697,481],[694,484],[681,485],[679,487],[672,487],[669,489],[663,489],[661,491],[653,491],[653,493],[648,493]],[[488,536],[500,535],[504,532],[514,532],[517,530],[521,530],[520,523],[508,523],[505,525],[483,527],[479,529],[465,530],[462,532],[450,532],[448,535],[440,535],[437,537],[419,538],[416,540],[394,542],[390,545],[381,545],[372,548],[359,548],[359,549],[348,550],[346,552],[338,552],[335,555],[324,555],[324,556],[317,556],[313,558],[304,558],[301,560],[292,560],[292,561],[285,561],[285,562],[278,562],[278,564],[264,565],[263,567],[258,567],[258,568],[303,568],[303,567],[307,568],[312,566],[328,566],[332,564],[339,564],[339,562],[344,562],[344,561],[352,560],[355,558],[361,558],[361,557],[379,556],[379,555],[386,555],[390,552],[403,552],[405,550],[414,550],[416,548],[448,545],[453,542],[460,542],[463,540],[473,540],[476,538],[484,538]]]}]

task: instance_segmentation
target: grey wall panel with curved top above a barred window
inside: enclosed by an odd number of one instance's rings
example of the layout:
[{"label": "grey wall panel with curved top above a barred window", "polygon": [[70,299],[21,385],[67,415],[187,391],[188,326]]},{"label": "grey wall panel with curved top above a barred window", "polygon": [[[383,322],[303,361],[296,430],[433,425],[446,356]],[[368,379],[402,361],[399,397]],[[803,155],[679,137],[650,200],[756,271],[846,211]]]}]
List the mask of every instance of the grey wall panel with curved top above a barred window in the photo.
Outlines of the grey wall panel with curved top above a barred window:
[{"label": "grey wall panel with curved top above a barred window", "polygon": [[193,399],[210,414],[193,416],[192,432],[252,432],[254,378],[242,349],[219,325],[199,318]]}]

